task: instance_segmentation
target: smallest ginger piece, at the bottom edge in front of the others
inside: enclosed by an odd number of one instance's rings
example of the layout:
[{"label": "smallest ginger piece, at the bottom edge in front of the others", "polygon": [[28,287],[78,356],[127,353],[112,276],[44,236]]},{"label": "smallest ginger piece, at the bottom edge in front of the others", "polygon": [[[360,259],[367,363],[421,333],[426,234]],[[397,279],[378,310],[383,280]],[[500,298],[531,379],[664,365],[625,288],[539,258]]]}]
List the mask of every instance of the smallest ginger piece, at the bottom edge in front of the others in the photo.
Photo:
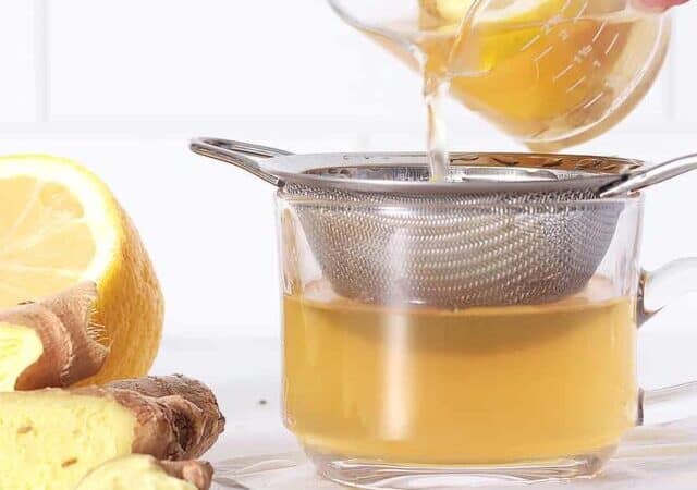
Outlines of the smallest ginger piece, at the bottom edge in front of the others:
[{"label": "smallest ginger piece, at the bottom edge in front of the others", "polygon": [[75,490],[208,490],[213,468],[199,461],[168,462],[134,454],[91,470]]}]

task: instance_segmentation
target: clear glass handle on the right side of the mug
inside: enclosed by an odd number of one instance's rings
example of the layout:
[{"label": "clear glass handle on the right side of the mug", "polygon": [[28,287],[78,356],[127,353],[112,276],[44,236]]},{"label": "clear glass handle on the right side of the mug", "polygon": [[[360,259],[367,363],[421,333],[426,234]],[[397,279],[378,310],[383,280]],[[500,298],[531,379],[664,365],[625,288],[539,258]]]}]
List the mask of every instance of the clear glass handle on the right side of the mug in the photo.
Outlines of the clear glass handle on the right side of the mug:
[{"label": "clear glass handle on the right side of the mug", "polygon": [[[638,326],[675,297],[690,292],[697,292],[697,258],[678,259],[653,272],[644,272],[637,305]],[[697,416],[697,381],[640,394],[638,425],[664,424],[690,416]]]}]

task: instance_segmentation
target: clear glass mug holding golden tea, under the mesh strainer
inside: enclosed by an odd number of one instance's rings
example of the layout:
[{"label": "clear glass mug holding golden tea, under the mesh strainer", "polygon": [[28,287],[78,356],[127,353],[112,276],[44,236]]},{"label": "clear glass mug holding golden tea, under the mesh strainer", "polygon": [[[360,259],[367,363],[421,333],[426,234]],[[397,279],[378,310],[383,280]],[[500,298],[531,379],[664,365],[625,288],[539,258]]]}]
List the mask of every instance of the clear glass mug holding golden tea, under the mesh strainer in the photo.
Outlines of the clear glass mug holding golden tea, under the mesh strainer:
[{"label": "clear glass mug holding golden tea, under the mesh strainer", "polygon": [[[669,297],[696,289],[697,264],[644,272],[643,198],[614,203],[615,233],[582,292],[457,310],[414,302],[396,277],[381,295],[388,301],[337,294],[307,240],[313,223],[299,218],[331,212],[328,203],[279,191],[284,421],[319,473],[405,489],[591,476],[632,427],[695,408],[693,383],[640,390],[636,342],[637,327]],[[337,212],[418,206],[331,200]],[[386,260],[408,257],[395,248]]]}]

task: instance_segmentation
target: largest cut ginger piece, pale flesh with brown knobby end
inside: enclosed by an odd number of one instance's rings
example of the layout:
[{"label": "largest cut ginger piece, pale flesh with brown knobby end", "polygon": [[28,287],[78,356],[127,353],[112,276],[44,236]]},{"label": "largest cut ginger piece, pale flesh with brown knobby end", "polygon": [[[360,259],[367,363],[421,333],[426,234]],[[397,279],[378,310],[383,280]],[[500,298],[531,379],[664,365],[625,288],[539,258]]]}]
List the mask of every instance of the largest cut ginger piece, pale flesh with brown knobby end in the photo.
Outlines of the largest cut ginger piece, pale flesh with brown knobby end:
[{"label": "largest cut ginger piece, pale flesh with brown knobby end", "polygon": [[3,490],[74,490],[97,466],[129,454],[195,460],[224,428],[212,392],[181,376],[5,392],[0,407]]}]

